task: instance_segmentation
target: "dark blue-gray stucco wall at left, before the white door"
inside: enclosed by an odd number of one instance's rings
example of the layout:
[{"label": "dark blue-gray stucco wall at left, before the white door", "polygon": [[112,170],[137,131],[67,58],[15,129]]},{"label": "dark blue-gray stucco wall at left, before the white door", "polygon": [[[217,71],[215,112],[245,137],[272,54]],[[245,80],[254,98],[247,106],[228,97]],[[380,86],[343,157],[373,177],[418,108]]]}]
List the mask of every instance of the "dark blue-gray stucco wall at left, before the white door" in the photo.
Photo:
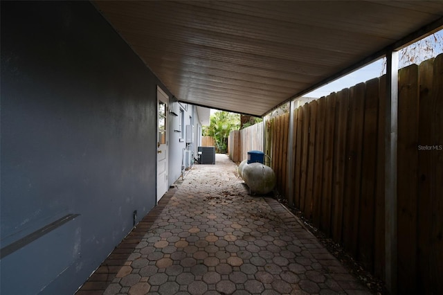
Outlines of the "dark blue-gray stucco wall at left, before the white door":
[{"label": "dark blue-gray stucco wall at left, before the white door", "polygon": [[157,84],[91,3],[1,1],[1,247],[79,214],[1,294],[72,294],[155,205]]}]

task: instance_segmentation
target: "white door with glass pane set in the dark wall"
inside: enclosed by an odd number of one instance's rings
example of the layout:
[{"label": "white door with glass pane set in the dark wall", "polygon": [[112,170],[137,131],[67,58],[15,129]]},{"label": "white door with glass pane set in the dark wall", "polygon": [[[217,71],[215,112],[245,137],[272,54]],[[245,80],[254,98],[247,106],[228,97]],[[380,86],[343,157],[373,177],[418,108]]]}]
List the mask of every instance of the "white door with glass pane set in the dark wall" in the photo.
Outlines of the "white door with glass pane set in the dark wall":
[{"label": "white door with glass pane set in the dark wall", "polygon": [[157,202],[168,191],[168,96],[157,87]]}]

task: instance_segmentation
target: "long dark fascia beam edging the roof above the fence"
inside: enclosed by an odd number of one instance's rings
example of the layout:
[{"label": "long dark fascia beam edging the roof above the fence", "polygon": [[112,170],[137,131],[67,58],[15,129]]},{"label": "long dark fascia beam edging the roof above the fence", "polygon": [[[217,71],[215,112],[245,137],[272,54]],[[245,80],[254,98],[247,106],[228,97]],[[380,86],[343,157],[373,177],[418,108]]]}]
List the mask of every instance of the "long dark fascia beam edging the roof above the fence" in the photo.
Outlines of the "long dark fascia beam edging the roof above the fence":
[{"label": "long dark fascia beam edging the roof above the fence", "polygon": [[266,116],[266,114],[269,114],[271,111],[278,109],[282,105],[286,104],[287,102],[290,102],[291,100],[294,100],[296,98],[299,98],[301,96],[304,96],[305,94],[314,91],[315,89],[324,86],[325,84],[328,84],[330,82],[333,82],[339,78],[342,78],[343,76],[352,73],[354,71],[357,71],[358,69],[363,68],[363,66],[366,66],[370,64],[371,62],[374,62],[375,60],[378,60],[381,57],[384,57],[386,53],[390,51],[398,51],[401,48],[404,48],[414,42],[416,42],[419,39],[422,39],[424,37],[427,37],[428,35],[431,35],[432,33],[435,33],[437,30],[440,30],[443,27],[443,17],[440,17],[440,19],[437,19],[436,21],[431,22],[431,24],[427,24],[426,26],[423,26],[422,28],[419,28],[413,33],[410,33],[406,37],[403,37],[399,39],[397,42],[394,42],[385,48],[372,53],[368,57],[363,58],[363,60],[359,60],[359,62],[356,62],[355,64],[352,64],[352,66],[348,66],[347,68],[338,71],[337,73],[334,73],[334,75],[331,75],[329,78],[326,78],[324,80],[321,80],[320,82],[312,85],[311,87],[308,87],[307,89],[304,89],[295,95],[291,96],[287,100],[284,100],[283,102],[280,102],[280,104],[276,105],[272,109],[269,109],[269,111],[266,111],[263,116]]}]

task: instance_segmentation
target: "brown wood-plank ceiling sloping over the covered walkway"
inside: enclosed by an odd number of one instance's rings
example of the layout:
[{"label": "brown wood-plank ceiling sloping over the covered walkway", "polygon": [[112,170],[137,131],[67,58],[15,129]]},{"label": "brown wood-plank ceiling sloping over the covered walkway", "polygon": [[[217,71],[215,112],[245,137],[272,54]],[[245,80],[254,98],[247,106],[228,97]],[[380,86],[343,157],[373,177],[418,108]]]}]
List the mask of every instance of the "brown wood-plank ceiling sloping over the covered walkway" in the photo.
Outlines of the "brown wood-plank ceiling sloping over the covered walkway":
[{"label": "brown wood-plank ceiling sloping over the covered walkway", "polygon": [[443,17],[443,1],[96,1],[180,101],[262,116]]}]

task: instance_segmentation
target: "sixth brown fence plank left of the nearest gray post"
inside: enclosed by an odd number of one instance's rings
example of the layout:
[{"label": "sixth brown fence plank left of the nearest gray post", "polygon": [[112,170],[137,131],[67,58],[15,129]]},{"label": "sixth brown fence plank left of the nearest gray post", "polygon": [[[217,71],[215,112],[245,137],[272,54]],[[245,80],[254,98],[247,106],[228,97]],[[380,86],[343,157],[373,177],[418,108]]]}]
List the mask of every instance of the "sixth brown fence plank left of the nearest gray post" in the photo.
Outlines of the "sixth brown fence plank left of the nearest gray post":
[{"label": "sixth brown fence plank left of the nearest gray post", "polygon": [[312,221],[317,228],[320,226],[320,208],[322,201],[323,185],[323,154],[325,143],[325,116],[326,116],[325,98],[317,100],[315,162],[314,162],[314,188],[312,194]]}]

